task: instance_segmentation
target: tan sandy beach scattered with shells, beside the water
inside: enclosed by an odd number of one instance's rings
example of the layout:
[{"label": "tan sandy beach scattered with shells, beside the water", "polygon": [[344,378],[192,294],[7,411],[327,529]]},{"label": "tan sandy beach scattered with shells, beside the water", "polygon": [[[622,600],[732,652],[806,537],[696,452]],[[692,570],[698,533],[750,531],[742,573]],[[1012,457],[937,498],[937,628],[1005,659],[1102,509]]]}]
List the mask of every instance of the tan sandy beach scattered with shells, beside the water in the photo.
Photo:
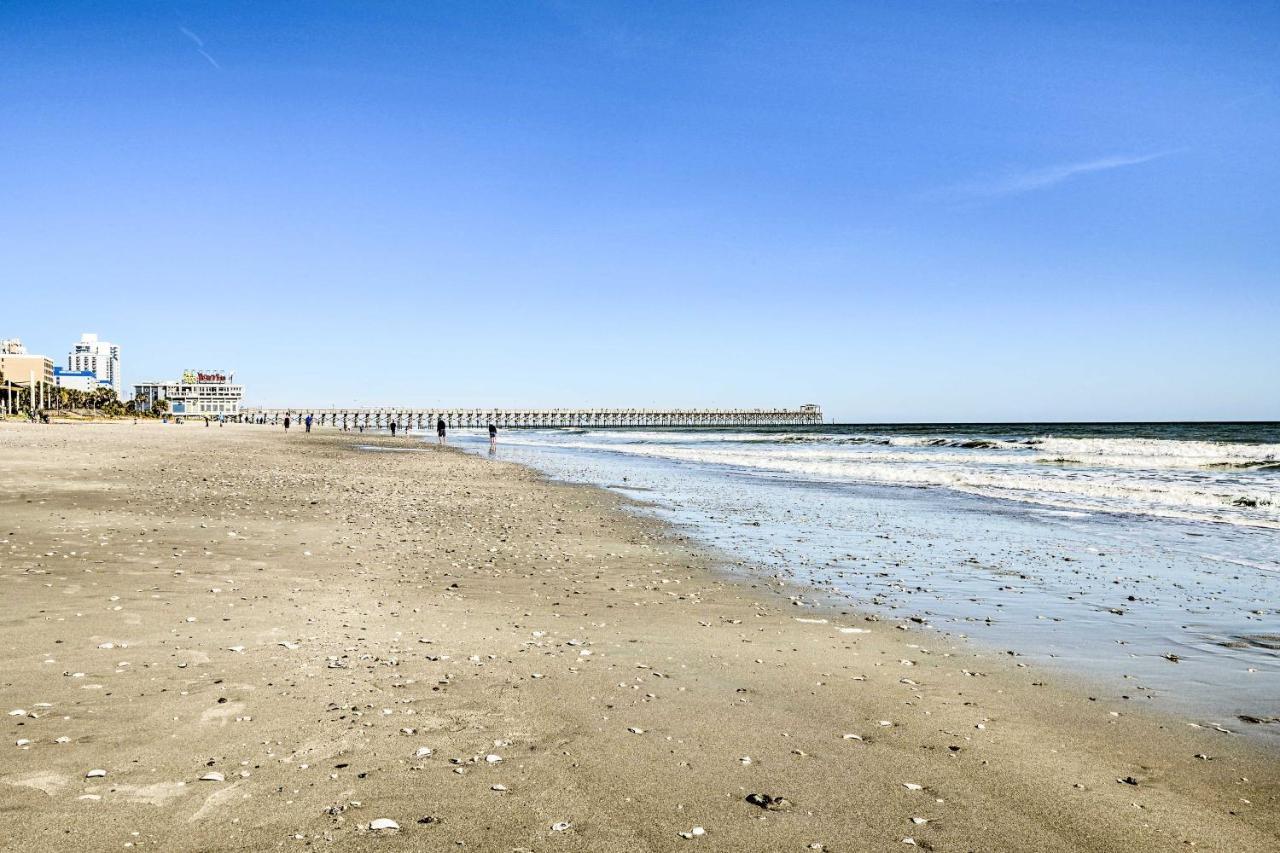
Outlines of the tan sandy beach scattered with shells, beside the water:
[{"label": "tan sandy beach scattered with shells, beside the water", "polygon": [[1263,745],[416,438],[0,424],[0,537],[5,849],[1280,845]]}]

